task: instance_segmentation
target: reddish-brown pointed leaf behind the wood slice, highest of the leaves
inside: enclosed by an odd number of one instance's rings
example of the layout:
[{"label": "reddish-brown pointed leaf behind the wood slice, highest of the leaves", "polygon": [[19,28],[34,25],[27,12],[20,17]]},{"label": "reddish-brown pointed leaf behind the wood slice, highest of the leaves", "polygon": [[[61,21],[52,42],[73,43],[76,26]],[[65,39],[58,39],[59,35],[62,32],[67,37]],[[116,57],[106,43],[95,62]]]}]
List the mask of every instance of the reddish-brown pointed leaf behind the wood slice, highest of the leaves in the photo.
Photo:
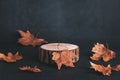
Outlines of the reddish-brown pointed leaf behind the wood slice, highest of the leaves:
[{"label": "reddish-brown pointed leaf behind the wood slice, highest of the leaves", "polygon": [[26,32],[22,30],[17,31],[21,35],[21,38],[18,39],[18,43],[24,46],[32,45],[33,47],[35,47],[37,45],[41,45],[42,43],[46,43],[44,39],[34,37],[34,35],[31,34],[29,30],[27,30]]}]

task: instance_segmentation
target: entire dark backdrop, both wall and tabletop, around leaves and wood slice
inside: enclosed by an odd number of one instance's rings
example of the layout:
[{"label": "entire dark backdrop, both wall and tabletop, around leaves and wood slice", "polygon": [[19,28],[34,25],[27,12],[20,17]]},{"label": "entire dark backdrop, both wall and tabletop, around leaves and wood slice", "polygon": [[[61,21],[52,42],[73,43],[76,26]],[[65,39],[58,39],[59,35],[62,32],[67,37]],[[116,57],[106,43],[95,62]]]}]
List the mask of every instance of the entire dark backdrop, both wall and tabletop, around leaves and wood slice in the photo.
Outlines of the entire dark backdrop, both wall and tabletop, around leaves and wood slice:
[{"label": "entire dark backdrop, both wall and tabletop, around leaves and wood slice", "polygon": [[[117,52],[117,58],[100,64],[119,64],[120,0],[0,0],[0,51],[17,50],[23,61],[0,62],[1,80],[118,80],[120,72],[110,77],[89,69],[91,48],[101,42]],[[73,69],[41,64],[39,47],[24,47],[17,43],[16,30],[30,30],[48,42],[67,42],[80,46],[80,61]],[[38,65],[42,73],[24,73],[22,65]]]}]

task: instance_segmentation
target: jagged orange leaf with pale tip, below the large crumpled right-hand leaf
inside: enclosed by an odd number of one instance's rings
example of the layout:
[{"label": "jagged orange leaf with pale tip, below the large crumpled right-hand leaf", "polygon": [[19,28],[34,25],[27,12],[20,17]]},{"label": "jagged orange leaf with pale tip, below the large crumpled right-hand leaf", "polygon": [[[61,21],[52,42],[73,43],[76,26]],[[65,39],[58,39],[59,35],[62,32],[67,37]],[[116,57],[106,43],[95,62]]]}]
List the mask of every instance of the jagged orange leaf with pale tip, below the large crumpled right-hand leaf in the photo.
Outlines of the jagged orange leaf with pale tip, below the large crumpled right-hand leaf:
[{"label": "jagged orange leaf with pale tip, below the large crumpled right-hand leaf", "polygon": [[95,71],[98,71],[102,73],[104,76],[110,76],[111,74],[111,66],[110,64],[107,67],[104,67],[103,65],[98,65],[90,62],[91,68],[94,69]]}]

